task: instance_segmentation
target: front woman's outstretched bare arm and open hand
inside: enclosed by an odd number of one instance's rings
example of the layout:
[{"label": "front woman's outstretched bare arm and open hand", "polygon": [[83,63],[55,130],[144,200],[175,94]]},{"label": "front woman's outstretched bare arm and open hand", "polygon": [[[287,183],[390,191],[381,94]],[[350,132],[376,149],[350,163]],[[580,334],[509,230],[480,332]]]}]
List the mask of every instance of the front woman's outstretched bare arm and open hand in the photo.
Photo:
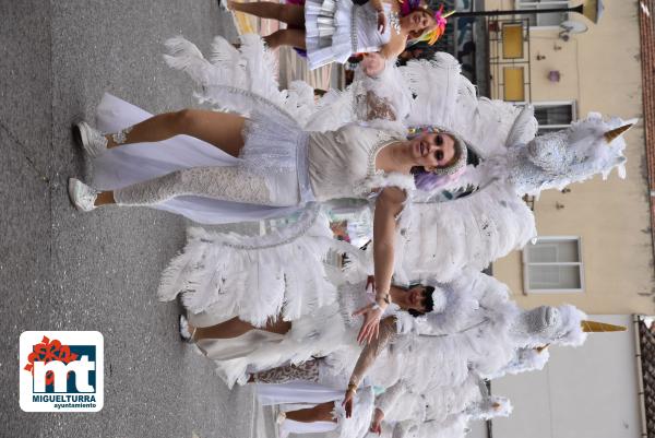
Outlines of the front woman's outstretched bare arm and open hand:
[{"label": "front woman's outstretched bare arm and open hand", "polygon": [[370,342],[377,338],[380,317],[391,303],[389,289],[394,269],[396,217],[403,211],[406,197],[405,192],[397,187],[388,187],[376,200],[373,215],[376,304],[355,312],[355,315],[364,315],[357,342]]}]

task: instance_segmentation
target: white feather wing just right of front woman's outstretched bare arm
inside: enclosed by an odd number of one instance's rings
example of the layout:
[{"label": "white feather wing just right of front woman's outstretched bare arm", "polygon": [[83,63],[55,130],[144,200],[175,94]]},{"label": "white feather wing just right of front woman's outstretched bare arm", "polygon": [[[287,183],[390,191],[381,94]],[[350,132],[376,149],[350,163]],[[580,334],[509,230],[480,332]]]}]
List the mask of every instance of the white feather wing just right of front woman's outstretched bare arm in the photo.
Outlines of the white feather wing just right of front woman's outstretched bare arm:
[{"label": "white feather wing just right of front woman's outstretched bare arm", "polygon": [[449,282],[464,269],[484,270],[536,235],[532,211],[500,180],[454,201],[414,203],[412,225],[397,245],[396,274]]}]

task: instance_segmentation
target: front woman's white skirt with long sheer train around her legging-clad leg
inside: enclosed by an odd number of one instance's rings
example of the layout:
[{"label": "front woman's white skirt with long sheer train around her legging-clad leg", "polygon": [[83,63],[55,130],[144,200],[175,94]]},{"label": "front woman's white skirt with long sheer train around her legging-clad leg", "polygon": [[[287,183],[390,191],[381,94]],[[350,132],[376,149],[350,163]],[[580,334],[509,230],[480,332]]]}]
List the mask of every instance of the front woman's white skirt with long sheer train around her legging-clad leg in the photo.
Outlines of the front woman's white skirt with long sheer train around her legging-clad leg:
[{"label": "front woman's white skirt with long sheer train around her legging-clad leg", "polygon": [[[106,94],[98,106],[97,125],[105,132],[117,132],[148,117],[146,111]],[[239,158],[186,135],[112,149],[94,159],[93,184],[98,189],[116,190],[119,203],[148,205],[205,224],[286,216],[313,200],[307,170],[309,134],[290,117],[279,110],[254,110],[243,137]],[[216,170],[199,176],[206,179],[204,185],[198,180],[187,182],[182,174],[199,167]],[[245,181],[236,180],[237,187],[230,191],[236,201],[216,199],[221,193],[214,193],[215,187],[225,179],[223,167],[254,174],[261,185],[239,187]],[[165,175],[180,177],[160,178]]]}]

